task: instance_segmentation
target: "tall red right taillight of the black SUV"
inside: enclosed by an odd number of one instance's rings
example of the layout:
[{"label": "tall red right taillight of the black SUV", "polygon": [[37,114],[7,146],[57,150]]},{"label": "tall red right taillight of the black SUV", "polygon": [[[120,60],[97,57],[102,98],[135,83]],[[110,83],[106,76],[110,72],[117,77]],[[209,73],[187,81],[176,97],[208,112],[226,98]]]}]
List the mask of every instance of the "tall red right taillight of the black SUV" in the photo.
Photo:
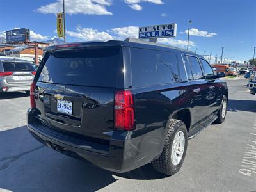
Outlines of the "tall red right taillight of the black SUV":
[{"label": "tall red right taillight of the black SUV", "polygon": [[134,129],[134,103],[132,93],[120,90],[115,93],[115,128]]}]

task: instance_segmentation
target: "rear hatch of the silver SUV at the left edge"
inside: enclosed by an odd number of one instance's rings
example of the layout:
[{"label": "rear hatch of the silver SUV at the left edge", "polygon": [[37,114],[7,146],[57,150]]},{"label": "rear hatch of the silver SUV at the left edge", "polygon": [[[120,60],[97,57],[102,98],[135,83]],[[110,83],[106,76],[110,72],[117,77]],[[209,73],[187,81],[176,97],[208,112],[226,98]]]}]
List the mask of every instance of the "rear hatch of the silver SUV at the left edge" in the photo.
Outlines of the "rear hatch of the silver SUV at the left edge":
[{"label": "rear hatch of the silver SUV at the left edge", "polygon": [[28,62],[3,61],[4,72],[10,72],[6,76],[9,84],[30,84],[35,75],[35,68]]}]

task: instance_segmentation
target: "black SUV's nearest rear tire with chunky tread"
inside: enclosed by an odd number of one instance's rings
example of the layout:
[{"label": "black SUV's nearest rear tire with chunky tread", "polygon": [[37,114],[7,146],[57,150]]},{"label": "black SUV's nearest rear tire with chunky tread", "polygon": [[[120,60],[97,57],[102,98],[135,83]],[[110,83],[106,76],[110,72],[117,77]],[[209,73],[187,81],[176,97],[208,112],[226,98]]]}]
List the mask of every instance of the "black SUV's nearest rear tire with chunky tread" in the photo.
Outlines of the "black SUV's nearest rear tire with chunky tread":
[{"label": "black SUV's nearest rear tire with chunky tread", "polygon": [[[175,145],[173,145],[173,141],[175,140],[176,136],[179,137],[179,135],[182,135],[181,132],[184,134],[184,150],[182,156],[179,156],[179,162],[176,161],[175,163],[173,163],[172,157],[177,156],[176,152],[172,154],[172,149],[173,151],[175,151]],[[188,133],[186,125],[181,120],[171,119],[166,138],[164,139],[163,152],[158,159],[152,161],[155,170],[164,173],[165,175],[174,175],[175,173],[177,173],[180,170],[185,159],[187,146]]]}]

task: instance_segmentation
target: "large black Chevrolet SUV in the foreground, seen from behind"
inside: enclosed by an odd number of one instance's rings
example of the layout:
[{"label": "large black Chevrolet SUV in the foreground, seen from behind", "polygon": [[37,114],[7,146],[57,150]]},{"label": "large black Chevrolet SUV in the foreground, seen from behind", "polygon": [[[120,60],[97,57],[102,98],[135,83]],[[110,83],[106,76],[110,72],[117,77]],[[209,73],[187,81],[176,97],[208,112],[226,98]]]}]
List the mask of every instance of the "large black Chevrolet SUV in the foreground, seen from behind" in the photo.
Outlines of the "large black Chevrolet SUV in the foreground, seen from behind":
[{"label": "large black Chevrolet SUV in the foreground, seen from behind", "polygon": [[178,172],[193,138],[225,120],[228,88],[183,49],[128,38],[48,47],[31,84],[36,140],[113,172]]}]

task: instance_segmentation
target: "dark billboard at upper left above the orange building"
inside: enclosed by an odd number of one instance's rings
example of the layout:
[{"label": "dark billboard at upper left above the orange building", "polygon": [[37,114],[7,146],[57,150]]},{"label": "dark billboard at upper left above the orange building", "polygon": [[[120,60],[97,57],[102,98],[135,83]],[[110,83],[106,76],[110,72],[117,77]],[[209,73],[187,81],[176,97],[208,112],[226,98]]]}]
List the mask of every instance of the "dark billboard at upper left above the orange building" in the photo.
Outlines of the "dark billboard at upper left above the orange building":
[{"label": "dark billboard at upper left above the orange building", "polygon": [[10,31],[6,31],[6,42],[26,42],[30,41],[30,32],[29,29],[20,28],[20,29],[13,29]]}]

